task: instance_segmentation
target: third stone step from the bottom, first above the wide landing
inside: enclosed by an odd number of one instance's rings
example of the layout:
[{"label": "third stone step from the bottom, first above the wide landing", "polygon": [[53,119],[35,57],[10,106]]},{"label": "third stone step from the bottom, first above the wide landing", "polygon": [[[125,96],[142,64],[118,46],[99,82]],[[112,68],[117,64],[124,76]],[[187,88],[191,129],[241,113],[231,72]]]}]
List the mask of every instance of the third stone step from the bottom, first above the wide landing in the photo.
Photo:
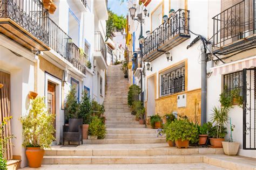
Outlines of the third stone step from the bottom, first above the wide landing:
[{"label": "third stone step from the bottom, first above the wide landing", "polygon": [[155,144],[166,143],[164,138],[146,138],[146,139],[96,139],[83,140],[84,144]]}]

